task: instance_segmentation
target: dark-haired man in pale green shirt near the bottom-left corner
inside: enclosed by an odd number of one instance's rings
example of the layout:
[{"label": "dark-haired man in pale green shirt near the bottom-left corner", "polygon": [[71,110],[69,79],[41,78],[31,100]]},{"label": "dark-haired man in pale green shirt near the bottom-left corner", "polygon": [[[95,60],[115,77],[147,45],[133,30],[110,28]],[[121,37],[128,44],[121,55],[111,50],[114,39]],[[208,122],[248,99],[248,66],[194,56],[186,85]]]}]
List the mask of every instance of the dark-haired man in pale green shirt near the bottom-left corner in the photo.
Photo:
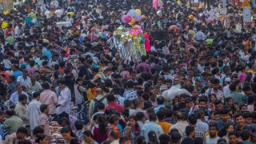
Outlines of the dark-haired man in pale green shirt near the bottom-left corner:
[{"label": "dark-haired man in pale green shirt near the bottom-left corner", "polygon": [[6,110],[6,118],[2,124],[2,129],[6,130],[8,134],[15,133],[19,127],[23,126],[22,119],[15,116],[14,110]]}]

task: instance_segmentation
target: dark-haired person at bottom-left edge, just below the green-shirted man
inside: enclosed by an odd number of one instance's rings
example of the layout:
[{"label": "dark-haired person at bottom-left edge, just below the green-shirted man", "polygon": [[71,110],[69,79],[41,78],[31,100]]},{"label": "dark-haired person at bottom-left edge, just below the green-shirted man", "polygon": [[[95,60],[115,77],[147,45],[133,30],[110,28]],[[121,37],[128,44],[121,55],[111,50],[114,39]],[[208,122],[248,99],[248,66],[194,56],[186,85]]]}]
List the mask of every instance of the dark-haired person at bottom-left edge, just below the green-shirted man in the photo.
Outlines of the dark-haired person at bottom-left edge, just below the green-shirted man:
[{"label": "dark-haired person at bottom-left edge, just below the green-shirted man", "polygon": [[26,129],[26,127],[19,127],[18,130],[16,132],[14,132],[13,134],[10,134],[8,136],[6,136],[6,140],[5,140],[5,144],[10,144],[10,143],[19,143],[19,142],[23,142],[26,140],[26,135],[28,134],[28,130]]}]

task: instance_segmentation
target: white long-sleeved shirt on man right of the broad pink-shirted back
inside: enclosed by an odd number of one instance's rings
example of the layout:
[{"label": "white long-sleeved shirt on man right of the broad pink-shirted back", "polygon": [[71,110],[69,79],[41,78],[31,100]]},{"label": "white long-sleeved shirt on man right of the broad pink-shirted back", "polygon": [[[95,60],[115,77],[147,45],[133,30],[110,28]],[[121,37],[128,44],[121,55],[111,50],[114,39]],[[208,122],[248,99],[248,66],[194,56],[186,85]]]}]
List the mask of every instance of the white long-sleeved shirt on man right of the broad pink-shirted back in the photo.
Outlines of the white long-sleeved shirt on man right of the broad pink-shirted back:
[{"label": "white long-sleeved shirt on man right of the broad pink-shirted back", "polygon": [[65,112],[66,114],[70,114],[70,102],[71,102],[71,92],[70,89],[66,86],[61,94],[58,96],[58,106],[56,109],[56,114],[62,114]]}]

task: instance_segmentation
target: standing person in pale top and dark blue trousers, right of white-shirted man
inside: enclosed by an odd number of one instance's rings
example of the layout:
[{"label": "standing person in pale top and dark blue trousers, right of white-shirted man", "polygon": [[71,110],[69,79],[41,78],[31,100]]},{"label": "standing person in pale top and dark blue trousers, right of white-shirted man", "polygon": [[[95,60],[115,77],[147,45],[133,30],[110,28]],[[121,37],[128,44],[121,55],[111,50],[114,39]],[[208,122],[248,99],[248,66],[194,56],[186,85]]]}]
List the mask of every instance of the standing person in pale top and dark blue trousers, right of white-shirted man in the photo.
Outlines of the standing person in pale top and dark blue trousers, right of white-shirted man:
[{"label": "standing person in pale top and dark blue trousers, right of white-shirted man", "polygon": [[[85,124],[89,122],[89,119],[86,117],[86,107],[82,106],[84,102],[87,101],[86,98],[86,88],[82,86],[83,79],[77,78],[74,84],[74,96],[75,96],[75,103],[78,106],[78,119],[83,118]],[[86,98],[86,99],[85,99]],[[82,111],[82,112],[81,112]],[[81,115],[82,114],[82,115]]]}]

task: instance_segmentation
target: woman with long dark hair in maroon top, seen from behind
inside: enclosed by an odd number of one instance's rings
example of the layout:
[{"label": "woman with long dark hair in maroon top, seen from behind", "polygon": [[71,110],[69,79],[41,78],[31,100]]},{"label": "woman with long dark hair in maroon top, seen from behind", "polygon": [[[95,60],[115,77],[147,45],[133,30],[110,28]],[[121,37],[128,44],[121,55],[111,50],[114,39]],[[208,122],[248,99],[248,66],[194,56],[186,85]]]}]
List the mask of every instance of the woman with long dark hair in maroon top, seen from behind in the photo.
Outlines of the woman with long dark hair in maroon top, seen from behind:
[{"label": "woman with long dark hair in maroon top, seen from behind", "polygon": [[98,143],[102,143],[107,139],[107,122],[106,118],[102,114],[97,114],[94,117],[96,118],[96,125],[92,128],[92,134],[94,139]]}]

